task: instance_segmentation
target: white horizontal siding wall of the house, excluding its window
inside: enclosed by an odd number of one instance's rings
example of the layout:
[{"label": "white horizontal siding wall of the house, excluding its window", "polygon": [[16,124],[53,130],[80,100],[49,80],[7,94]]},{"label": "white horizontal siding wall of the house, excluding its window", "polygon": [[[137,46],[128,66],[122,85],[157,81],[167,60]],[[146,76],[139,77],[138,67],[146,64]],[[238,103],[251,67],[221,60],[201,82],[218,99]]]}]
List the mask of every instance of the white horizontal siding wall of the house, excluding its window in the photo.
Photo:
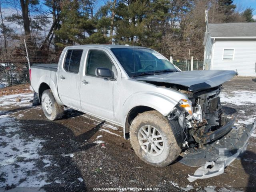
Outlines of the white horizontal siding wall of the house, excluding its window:
[{"label": "white horizontal siding wall of the house, excluding its window", "polygon": [[[223,50],[234,49],[233,60],[223,60]],[[256,40],[216,40],[212,69],[237,70],[241,76],[256,76]],[[209,68],[210,69],[210,68]]]}]

